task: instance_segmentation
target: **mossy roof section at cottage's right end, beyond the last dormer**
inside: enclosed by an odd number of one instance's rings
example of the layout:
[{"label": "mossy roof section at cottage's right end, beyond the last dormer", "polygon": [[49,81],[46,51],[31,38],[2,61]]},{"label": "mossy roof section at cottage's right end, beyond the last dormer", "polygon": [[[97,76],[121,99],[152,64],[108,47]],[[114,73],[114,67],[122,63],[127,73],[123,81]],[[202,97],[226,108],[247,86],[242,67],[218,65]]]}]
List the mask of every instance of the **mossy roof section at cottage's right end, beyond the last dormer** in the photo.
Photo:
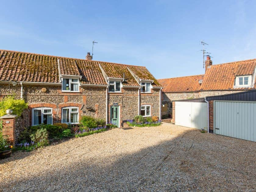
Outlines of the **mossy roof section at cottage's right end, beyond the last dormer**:
[{"label": "mossy roof section at cottage's right end, beyond the last dormer", "polygon": [[161,83],[143,66],[128,66],[132,72],[137,75],[141,80],[154,80],[153,87],[161,87]]}]

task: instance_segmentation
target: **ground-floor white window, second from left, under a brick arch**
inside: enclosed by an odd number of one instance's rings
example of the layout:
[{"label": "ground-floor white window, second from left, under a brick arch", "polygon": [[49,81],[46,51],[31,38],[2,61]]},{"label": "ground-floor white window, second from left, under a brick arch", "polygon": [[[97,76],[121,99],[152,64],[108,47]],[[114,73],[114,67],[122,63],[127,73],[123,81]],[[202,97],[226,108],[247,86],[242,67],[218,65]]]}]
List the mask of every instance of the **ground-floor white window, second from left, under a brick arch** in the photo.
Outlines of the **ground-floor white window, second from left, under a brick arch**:
[{"label": "ground-floor white window, second from left, under a brick arch", "polygon": [[79,123],[78,107],[63,107],[61,113],[61,123]]}]

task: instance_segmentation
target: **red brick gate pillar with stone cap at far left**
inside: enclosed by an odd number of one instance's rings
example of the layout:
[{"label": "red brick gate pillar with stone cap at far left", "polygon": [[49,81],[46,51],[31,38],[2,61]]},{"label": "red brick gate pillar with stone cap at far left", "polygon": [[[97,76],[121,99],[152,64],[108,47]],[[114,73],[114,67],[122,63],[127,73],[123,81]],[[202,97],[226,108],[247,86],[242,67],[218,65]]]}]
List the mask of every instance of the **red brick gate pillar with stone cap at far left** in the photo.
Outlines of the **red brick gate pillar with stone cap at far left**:
[{"label": "red brick gate pillar with stone cap at far left", "polygon": [[15,118],[16,115],[4,115],[1,118],[3,121],[2,134],[8,135],[12,144],[15,144]]}]

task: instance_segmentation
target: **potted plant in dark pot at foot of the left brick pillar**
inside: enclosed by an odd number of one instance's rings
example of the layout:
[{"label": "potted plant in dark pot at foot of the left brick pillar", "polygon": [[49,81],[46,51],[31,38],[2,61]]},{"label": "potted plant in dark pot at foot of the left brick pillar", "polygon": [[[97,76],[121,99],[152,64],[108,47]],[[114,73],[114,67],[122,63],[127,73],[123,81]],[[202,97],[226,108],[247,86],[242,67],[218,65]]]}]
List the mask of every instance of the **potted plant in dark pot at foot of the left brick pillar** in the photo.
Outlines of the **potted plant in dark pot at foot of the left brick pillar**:
[{"label": "potted plant in dark pot at foot of the left brick pillar", "polygon": [[2,134],[3,122],[0,121],[0,158],[7,158],[10,157],[12,153],[12,145],[8,140],[7,136]]}]

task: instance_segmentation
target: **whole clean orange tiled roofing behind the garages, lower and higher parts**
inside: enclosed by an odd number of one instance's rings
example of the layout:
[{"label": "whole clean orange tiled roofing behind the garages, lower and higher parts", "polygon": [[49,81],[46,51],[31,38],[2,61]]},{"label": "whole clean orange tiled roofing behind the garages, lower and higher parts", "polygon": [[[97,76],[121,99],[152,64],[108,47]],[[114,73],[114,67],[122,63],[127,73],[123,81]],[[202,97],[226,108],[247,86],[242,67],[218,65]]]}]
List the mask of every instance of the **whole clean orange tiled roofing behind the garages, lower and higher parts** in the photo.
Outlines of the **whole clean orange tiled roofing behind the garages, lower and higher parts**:
[{"label": "whole clean orange tiled roofing behind the garages, lower and higher parts", "polygon": [[[158,82],[164,87],[164,92],[251,89],[234,88],[234,80],[236,76],[252,75],[255,66],[256,59],[236,61],[212,65],[206,69],[204,75],[158,79]],[[203,80],[201,85],[198,82],[200,79]],[[256,88],[256,82],[254,82],[254,88]]]}]

